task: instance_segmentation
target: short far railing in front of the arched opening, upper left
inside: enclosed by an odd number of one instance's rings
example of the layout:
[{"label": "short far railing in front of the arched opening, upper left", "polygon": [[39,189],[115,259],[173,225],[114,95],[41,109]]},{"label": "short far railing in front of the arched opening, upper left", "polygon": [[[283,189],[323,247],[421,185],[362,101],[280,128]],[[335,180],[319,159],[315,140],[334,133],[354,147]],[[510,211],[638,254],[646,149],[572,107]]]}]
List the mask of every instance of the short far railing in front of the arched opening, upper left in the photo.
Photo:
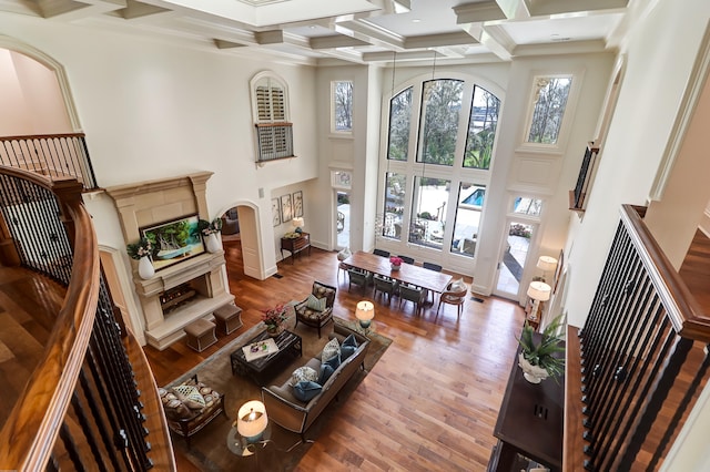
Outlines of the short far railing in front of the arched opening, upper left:
[{"label": "short far railing in front of the arched opening, upper left", "polygon": [[74,177],[84,189],[99,187],[83,133],[0,137],[0,165],[36,172],[51,181]]}]

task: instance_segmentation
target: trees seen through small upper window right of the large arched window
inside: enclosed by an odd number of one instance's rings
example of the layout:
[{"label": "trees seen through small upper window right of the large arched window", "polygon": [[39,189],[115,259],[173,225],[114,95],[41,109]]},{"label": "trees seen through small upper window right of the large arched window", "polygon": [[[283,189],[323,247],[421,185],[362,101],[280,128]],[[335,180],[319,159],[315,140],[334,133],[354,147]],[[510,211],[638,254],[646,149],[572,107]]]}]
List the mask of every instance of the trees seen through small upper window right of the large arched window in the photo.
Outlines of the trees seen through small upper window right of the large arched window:
[{"label": "trees seen through small upper window right of the large arched window", "polygon": [[532,96],[535,109],[530,121],[528,143],[557,143],[571,84],[571,76],[535,78]]}]

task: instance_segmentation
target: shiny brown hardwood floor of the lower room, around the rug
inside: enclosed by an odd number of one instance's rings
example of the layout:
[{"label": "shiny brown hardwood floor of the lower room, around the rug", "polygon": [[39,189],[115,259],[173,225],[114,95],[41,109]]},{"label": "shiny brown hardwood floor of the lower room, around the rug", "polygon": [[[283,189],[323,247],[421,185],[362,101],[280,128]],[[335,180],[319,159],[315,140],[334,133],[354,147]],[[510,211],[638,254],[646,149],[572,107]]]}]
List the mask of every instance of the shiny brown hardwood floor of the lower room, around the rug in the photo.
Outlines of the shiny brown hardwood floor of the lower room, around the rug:
[{"label": "shiny brown hardwood floor of the lower room, around the rug", "polygon": [[[260,321],[261,309],[303,299],[313,280],[338,287],[335,315],[355,319],[355,305],[372,299],[338,274],[335,253],[313,248],[311,256],[278,265],[277,277],[245,277],[239,242],[224,244],[230,289],[243,308],[244,327],[217,345],[195,352],[184,341],[145,352],[159,384],[214,353]],[[470,284],[470,279],[467,279]],[[469,299],[460,320],[456,307],[427,306],[415,316],[412,304],[399,309],[375,301],[374,329],[392,346],[347,399],[305,454],[298,470],[483,471],[495,444],[493,428],[508,380],[523,308],[498,298]],[[230,417],[234,412],[227,412]],[[307,437],[307,433],[306,433]],[[181,471],[195,470],[178,458]]]}]

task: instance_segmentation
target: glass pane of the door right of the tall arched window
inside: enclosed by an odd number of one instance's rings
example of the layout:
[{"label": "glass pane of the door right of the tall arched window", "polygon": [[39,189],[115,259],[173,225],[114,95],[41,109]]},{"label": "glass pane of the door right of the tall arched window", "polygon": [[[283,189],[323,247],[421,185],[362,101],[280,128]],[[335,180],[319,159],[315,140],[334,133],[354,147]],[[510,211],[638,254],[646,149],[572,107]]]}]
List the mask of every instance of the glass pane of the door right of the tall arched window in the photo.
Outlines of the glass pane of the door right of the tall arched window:
[{"label": "glass pane of the door right of the tall arched window", "polygon": [[536,224],[508,219],[506,242],[498,260],[498,278],[494,294],[511,300],[519,299],[520,280],[528,259],[528,249]]}]

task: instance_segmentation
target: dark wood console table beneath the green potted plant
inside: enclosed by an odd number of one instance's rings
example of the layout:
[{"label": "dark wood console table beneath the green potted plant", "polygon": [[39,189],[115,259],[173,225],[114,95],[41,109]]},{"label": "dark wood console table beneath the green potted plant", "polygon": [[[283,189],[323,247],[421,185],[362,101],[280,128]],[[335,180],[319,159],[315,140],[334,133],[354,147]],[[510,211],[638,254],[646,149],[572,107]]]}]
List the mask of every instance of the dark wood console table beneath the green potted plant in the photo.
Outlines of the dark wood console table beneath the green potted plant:
[{"label": "dark wood console table beneath the green potted plant", "polygon": [[[541,335],[534,334],[536,342]],[[498,444],[488,463],[489,472],[527,470],[529,460],[551,471],[562,470],[565,378],[530,383],[523,377],[515,355],[494,435]]]}]

